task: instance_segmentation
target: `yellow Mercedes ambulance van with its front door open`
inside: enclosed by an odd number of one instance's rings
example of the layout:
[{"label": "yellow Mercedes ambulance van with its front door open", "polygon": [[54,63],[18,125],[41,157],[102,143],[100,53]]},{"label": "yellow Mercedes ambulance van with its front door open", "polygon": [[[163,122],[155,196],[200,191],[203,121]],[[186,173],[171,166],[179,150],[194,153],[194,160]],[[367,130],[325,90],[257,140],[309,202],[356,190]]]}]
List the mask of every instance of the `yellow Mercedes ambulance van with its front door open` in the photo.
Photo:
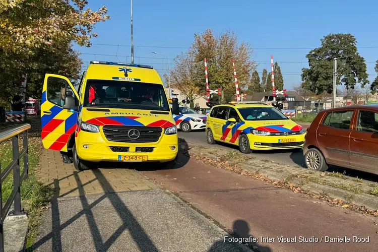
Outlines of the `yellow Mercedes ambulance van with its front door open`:
[{"label": "yellow Mercedes ambulance van with its front door open", "polygon": [[177,161],[177,99],[170,107],[158,73],[150,66],[91,61],[78,91],[64,76],[46,74],[42,141],[46,149],[69,153],[76,169],[93,162]]}]

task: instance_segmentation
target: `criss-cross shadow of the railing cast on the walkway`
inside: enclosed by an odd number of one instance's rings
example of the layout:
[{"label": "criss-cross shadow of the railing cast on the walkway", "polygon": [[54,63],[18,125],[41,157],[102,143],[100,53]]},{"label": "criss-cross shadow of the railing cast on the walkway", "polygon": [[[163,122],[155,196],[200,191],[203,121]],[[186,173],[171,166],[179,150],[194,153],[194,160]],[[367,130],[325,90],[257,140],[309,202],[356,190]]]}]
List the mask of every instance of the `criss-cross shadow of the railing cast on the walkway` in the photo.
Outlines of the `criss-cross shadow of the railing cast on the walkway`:
[{"label": "criss-cross shadow of the railing cast on the walkway", "polygon": [[[141,251],[158,251],[152,240],[144,231],[143,227],[135,219],[131,211],[127,206],[124,205],[124,202],[119,198],[117,194],[104,194],[99,199],[89,204],[88,199],[84,196],[84,188],[81,185],[81,180],[78,173],[80,172],[75,171],[72,176],[74,176],[76,180],[77,188],[75,188],[75,190],[79,190],[79,199],[81,201],[83,209],[65,223],[60,223],[59,206],[57,200],[57,197],[59,196],[59,180],[54,179],[53,184],[55,187],[55,197],[51,202],[52,231],[42,237],[40,240],[36,241],[27,249],[27,251],[36,250],[50,239],[52,239],[52,251],[62,251],[61,231],[71,225],[74,221],[78,220],[81,216],[85,216],[87,219],[96,251],[107,251],[124,230],[129,231]],[[101,181],[101,186],[103,187],[103,190],[105,192],[109,190],[109,188],[112,188],[109,181],[107,181],[100,170],[93,170],[93,174],[96,176],[97,180]],[[66,177],[62,179],[66,179]],[[96,225],[94,214],[92,212],[92,208],[104,199],[109,200],[114,210],[123,222],[122,225],[118,227],[117,230],[107,240],[102,240],[100,230]]]}]

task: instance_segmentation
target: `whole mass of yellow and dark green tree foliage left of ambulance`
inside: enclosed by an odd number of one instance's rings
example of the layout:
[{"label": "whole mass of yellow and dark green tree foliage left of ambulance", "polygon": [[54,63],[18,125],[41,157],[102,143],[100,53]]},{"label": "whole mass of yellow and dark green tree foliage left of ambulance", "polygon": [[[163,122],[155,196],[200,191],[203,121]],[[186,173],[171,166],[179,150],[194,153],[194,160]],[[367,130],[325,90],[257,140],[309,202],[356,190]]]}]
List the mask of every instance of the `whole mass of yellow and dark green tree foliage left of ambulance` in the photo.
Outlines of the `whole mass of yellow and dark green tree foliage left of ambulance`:
[{"label": "whole mass of yellow and dark green tree foliage left of ambulance", "polygon": [[82,61],[71,42],[90,46],[94,25],[106,7],[93,12],[86,0],[3,0],[0,4],[0,100],[19,94],[28,75],[27,96],[41,96],[46,73],[79,78]]}]

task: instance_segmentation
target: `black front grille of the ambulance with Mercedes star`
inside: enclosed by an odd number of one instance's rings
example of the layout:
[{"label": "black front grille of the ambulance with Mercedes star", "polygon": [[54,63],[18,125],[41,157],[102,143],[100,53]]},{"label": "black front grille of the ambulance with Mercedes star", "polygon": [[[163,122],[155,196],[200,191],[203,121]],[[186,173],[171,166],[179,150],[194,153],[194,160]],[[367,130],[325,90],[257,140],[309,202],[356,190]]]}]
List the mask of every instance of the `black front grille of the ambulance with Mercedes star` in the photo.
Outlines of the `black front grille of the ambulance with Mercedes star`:
[{"label": "black front grille of the ambulance with Mercedes star", "polygon": [[[129,137],[129,131],[137,130],[139,137],[131,135]],[[108,141],[122,142],[122,143],[154,143],[159,141],[162,133],[160,127],[144,127],[144,126],[120,126],[120,125],[105,125],[102,128],[104,135]],[[133,132],[134,133],[134,132]]]}]

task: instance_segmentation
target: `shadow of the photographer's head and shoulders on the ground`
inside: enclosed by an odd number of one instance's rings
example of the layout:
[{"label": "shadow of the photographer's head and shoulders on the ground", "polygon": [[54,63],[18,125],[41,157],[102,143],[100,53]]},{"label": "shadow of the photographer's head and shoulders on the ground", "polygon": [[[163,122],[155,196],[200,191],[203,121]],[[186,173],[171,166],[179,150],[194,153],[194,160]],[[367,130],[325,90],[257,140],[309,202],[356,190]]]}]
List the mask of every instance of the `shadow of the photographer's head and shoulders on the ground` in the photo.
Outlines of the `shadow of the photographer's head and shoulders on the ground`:
[{"label": "shadow of the photographer's head and shoulders on the ground", "polygon": [[[233,223],[233,230],[232,230],[231,235],[235,238],[249,238],[249,239],[257,238],[257,237],[254,237],[253,235],[250,235],[249,231],[250,231],[249,225],[246,221],[236,220]],[[223,247],[224,242],[228,242],[228,241],[225,240],[225,239],[222,239],[222,240],[218,240],[218,241],[214,242],[213,245],[208,250],[208,252],[221,251],[220,248]],[[269,246],[261,246],[256,242],[249,242],[248,241],[248,247],[250,249],[253,249],[255,247],[254,251],[256,250],[256,247],[257,247],[258,251],[261,251],[261,252],[271,252],[272,251]]]}]

